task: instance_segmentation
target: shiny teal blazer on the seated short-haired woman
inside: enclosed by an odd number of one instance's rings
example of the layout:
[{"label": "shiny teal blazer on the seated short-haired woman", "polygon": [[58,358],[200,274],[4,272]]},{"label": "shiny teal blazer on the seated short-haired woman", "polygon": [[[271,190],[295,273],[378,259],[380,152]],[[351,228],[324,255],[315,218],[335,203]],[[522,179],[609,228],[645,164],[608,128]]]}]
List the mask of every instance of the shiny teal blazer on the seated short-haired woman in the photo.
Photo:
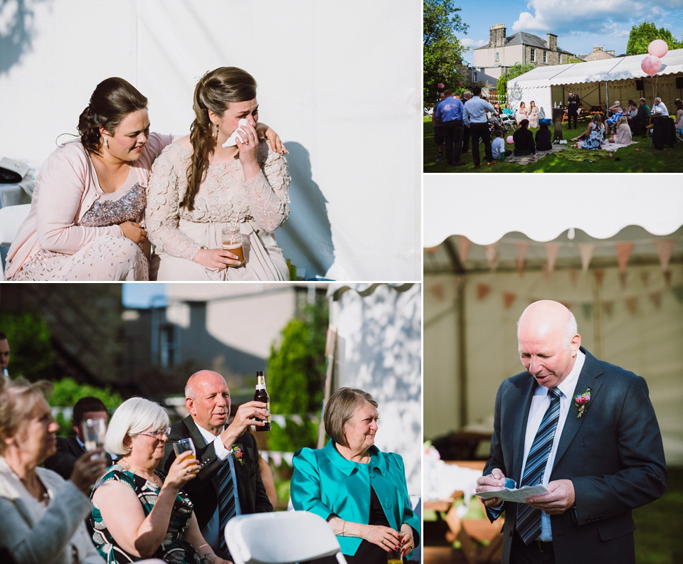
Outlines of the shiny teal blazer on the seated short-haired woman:
[{"label": "shiny teal blazer on the seated short-haired woman", "polygon": [[[344,521],[368,523],[372,486],[391,528],[398,531],[403,523],[410,525],[418,546],[420,520],[408,499],[403,459],[393,452],[380,452],[375,446],[369,452],[369,464],[359,464],[342,457],[332,440],[323,449],[297,450],[290,482],[294,509],[324,519],[334,514]],[[354,555],[363,539],[337,536],[337,540],[342,553]]]}]

